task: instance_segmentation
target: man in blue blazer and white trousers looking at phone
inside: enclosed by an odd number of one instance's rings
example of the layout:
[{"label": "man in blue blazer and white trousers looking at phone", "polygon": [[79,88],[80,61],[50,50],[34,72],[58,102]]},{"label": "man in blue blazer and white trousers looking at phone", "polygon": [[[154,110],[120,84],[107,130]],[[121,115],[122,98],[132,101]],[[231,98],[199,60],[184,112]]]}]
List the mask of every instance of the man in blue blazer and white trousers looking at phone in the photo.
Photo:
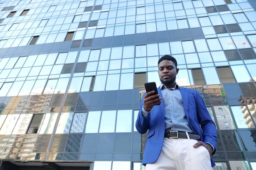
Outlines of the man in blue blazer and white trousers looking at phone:
[{"label": "man in blue blazer and white trousers looking at phone", "polygon": [[148,131],[142,164],[146,170],[212,170],[216,126],[199,92],[178,86],[178,72],[175,58],[164,55],[158,94],[144,94],[136,121],[139,133]]}]

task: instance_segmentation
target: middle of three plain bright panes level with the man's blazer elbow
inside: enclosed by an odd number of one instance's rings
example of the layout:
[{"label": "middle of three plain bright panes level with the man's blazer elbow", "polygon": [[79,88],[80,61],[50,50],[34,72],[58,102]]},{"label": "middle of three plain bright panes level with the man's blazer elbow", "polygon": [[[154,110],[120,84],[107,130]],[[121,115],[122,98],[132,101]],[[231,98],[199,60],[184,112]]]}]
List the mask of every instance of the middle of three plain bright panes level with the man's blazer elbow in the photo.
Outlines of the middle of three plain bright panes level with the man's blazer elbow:
[{"label": "middle of three plain bright panes level with the man's blazer elbow", "polygon": [[100,133],[115,132],[116,110],[102,111]]}]

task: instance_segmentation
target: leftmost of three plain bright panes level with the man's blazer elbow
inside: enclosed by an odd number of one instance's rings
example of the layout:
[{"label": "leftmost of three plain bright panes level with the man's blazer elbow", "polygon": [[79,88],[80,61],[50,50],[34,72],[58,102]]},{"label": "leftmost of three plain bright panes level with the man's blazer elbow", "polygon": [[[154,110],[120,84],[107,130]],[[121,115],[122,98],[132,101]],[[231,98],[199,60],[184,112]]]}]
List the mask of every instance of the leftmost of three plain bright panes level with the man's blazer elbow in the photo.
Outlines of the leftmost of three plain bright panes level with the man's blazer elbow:
[{"label": "leftmost of three plain bright panes level with the man's blazer elbow", "polygon": [[101,117],[100,111],[90,111],[88,113],[85,133],[98,133],[100,117]]}]

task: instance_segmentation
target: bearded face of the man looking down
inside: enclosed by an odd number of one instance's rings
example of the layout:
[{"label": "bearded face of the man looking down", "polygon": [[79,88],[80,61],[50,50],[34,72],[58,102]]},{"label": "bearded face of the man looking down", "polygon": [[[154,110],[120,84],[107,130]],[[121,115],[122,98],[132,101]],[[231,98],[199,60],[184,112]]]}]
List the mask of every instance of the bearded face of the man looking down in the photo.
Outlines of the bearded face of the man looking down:
[{"label": "bearded face of the man looking down", "polygon": [[171,60],[163,60],[158,65],[158,75],[162,84],[167,88],[173,88],[175,85],[176,74],[179,68]]}]

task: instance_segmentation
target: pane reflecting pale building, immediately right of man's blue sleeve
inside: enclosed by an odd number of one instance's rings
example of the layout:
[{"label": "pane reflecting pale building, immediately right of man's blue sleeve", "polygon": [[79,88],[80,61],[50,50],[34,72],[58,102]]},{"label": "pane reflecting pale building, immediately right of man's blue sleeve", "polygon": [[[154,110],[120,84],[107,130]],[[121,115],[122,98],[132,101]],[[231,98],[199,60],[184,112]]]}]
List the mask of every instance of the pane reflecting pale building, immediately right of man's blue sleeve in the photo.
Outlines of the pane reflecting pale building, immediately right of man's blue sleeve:
[{"label": "pane reflecting pale building, immediately right of man's blue sleeve", "polygon": [[236,129],[228,106],[213,106],[220,130]]}]

